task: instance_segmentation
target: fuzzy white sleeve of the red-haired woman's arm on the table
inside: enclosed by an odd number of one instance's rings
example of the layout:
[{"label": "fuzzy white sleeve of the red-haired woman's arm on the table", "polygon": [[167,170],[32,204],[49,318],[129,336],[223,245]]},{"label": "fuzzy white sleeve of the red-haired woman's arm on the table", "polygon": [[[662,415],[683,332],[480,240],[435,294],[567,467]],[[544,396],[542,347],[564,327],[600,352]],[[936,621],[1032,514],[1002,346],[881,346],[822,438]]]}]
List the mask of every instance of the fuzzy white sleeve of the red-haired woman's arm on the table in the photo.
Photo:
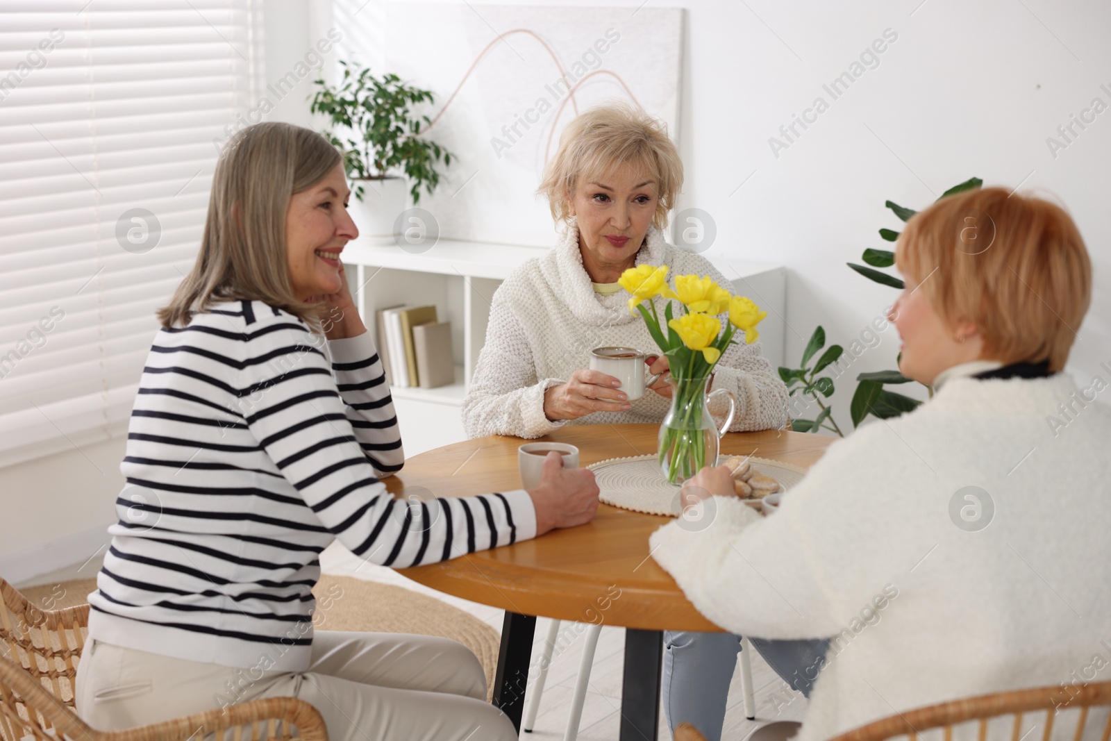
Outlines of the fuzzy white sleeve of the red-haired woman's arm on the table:
[{"label": "fuzzy white sleeve of the red-haired woman's arm on the table", "polygon": [[[944,502],[923,493],[937,490],[937,477],[908,448],[907,429],[900,438],[877,424],[834,442],[767,518],[739,499],[711,498],[699,519],[651,535],[653,558],[728,630],[837,634],[862,609],[880,608],[874,600],[905,588],[915,562],[947,533],[964,534],[949,523]],[[905,522],[914,528],[898,527]]]}]

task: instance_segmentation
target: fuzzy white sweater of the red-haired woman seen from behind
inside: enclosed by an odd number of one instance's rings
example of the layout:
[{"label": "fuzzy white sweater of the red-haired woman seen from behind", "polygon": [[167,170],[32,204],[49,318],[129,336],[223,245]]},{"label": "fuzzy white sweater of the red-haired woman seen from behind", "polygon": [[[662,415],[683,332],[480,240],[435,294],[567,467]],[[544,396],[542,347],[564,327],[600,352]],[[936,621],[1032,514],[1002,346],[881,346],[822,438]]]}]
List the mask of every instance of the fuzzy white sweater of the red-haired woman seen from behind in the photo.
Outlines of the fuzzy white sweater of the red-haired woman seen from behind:
[{"label": "fuzzy white sweater of the red-haired woman seen from behind", "polygon": [[[962,697],[1107,681],[1111,410],[1079,397],[1064,374],[951,379],[832,444],[771,517],[715,497],[711,524],[664,525],[652,554],[728,630],[835,637],[801,741]],[[1048,423],[1059,404],[1073,410],[1063,429]],[[954,524],[962,507],[975,519],[968,492],[950,514],[970,485],[994,504],[978,531]],[[1050,700],[1069,708],[1069,691]],[[1075,712],[1054,738],[1072,738]]]}]

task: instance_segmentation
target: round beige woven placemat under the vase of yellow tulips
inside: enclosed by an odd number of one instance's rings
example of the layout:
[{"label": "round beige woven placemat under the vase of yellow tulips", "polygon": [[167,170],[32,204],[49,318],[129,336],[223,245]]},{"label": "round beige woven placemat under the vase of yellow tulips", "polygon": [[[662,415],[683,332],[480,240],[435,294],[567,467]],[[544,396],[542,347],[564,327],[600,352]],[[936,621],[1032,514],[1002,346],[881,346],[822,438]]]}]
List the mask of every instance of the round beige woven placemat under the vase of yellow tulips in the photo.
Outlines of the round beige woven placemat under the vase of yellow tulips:
[{"label": "round beige woven placemat under the vase of yellow tulips", "polygon": [[[725,458],[728,457],[723,455],[721,460]],[[807,474],[805,469],[782,461],[755,457],[745,460],[757,473],[770,475],[779,481],[782,491],[790,491]],[[682,514],[682,504],[679,501],[680,487],[668,483],[654,453],[633,458],[611,458],[587,468],[594,472],[594,479],[601,490],[598,498],[607,504],[645,514],[671,517]]]}]

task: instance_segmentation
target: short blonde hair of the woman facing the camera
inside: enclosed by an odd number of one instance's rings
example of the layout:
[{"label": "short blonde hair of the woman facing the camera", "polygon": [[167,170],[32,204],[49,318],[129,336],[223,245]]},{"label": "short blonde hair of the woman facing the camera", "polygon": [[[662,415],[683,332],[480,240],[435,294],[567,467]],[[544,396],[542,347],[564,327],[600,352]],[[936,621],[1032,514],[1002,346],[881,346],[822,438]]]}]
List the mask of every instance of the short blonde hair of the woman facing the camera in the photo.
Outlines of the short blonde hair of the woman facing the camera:
[{"label": "short blonde hair of the woman facing the camera", "polygon": [[567,221],[568,194],[573,196],[579,183],[603,177],[620,164],[643,168],[645,177],[655,181],[652,224],[663,229],[683,187],[683,163],[668,138],[668,127],[625,103],[593,108],[568,123],[537,192],[548,199],[552,219]]}]

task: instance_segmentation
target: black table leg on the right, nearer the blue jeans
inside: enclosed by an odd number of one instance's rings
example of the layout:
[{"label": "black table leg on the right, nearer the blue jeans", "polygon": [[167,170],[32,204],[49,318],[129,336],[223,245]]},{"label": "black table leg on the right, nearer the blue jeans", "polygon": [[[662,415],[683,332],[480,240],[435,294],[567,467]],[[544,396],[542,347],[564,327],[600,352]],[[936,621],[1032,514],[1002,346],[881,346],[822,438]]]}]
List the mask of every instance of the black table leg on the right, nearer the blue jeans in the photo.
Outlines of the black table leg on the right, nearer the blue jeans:
[{"label": "black table leg on the right, nearer the blue jeans", "polygon": [[621,741],[655,741],[660,728],[663,632],[625,630],[621,687]]}]

